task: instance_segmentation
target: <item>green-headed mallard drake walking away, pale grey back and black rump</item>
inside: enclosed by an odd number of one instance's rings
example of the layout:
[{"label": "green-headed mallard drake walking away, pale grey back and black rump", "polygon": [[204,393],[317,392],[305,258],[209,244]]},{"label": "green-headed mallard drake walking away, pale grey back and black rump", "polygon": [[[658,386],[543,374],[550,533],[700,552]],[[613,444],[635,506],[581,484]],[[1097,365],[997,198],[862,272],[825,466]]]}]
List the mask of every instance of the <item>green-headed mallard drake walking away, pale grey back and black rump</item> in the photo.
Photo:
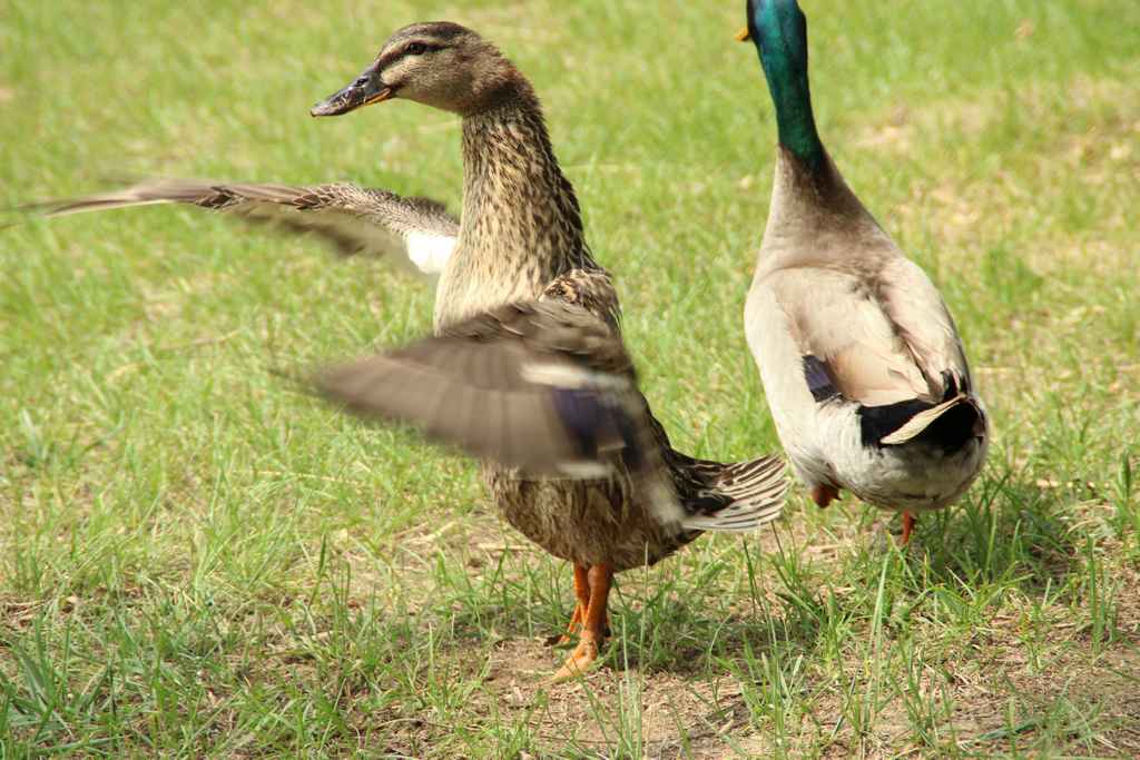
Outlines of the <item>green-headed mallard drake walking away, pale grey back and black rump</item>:
[{"label": "green-headed mallard drake walking away, pale grey back and black rump", "polygon": [[954,320],[891,242],[815,129],[807,21],[796,0],[749,0],[748,30],[780,145],[767,228],[744,309],[780,440],[821,507],[848,489],[914,514],[954,501],[988,443]]}]

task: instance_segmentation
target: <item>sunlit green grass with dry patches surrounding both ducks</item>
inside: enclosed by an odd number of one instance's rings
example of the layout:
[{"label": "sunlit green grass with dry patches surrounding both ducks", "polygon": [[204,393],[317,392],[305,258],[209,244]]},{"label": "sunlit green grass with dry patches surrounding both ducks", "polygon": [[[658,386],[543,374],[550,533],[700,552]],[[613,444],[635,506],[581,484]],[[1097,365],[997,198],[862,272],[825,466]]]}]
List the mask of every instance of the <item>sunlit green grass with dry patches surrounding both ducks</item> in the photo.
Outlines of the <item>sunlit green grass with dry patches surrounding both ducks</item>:
[{"label": "sunlit green grass with dry patches surrounding both ducks", "polygon": [[[0,204],[170,174],[457,207],[454,119],[306,114],[451,17],[544,97],[679,448],[771,450],[740,314],[774,123],[741,9],[712,5],[9,3]],[[1140,753],[1132,3],[804,6],[824,140],[942,287],[994,419],[960,505],[899,553],[891,516],[797,493],[774,530],[620,578],[605,663],[551,688],[568,569],[469,463],[269,371],[420,335],[430,292],[194,210],[22,222],[0,757]]]}]

